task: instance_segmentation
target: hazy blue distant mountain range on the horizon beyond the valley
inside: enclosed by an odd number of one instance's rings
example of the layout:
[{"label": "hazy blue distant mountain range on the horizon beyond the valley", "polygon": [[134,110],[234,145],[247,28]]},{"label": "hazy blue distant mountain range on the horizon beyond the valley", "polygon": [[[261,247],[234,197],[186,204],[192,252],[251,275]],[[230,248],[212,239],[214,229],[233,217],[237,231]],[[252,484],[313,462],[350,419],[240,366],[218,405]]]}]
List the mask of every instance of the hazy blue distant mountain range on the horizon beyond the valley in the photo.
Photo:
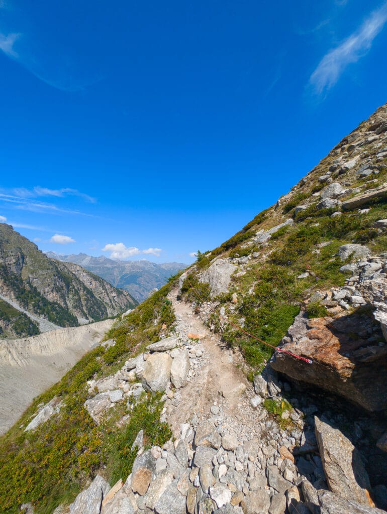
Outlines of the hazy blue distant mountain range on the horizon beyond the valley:
[{"label": "hazy blue distant mountain range on the horizon beyond the valley", "polygon": [[47,252],[46,255],[51,259],[75,263],[92,271],[113,286],[126,289],[139,302],[146,300],[152,289],[159,289],[169,277],[187,267],[186,264],[177,262],[156,264],[149,261],[113,261],[103,255],[92,257],[85,253],[58,255]]}]

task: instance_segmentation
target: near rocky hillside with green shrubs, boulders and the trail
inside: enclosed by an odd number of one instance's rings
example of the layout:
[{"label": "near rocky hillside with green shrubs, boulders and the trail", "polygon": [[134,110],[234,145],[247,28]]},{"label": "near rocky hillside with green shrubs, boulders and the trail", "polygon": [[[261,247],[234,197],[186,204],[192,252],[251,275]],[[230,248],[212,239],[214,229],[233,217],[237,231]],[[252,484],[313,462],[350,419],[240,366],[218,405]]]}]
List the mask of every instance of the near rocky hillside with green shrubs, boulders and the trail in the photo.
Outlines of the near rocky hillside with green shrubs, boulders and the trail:
[{"label": "near rocky hillside with green shrubs, boulders and the trail", "polygon": [[0,510],[387,509],[387,105],[2,438]]}]

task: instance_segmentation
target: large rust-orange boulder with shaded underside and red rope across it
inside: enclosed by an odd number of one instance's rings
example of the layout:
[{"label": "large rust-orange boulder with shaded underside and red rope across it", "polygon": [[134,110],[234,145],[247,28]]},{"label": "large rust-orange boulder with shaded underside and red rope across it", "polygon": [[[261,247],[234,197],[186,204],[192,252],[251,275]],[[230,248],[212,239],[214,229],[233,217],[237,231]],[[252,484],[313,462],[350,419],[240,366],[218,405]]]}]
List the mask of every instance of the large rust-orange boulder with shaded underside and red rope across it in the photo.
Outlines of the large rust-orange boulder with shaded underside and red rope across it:
[{"label": "large rust-orange boulder with shaded underside and red rope across it", "polygon": [[339,394],[368,411],[383,410],[387,408],[387,348],[368,341],[368,337],[364,320],[356,313],[335,319],[308,319],[300,313],[279,347],[312,363],[275,352],[270,365],[290,378]]}]

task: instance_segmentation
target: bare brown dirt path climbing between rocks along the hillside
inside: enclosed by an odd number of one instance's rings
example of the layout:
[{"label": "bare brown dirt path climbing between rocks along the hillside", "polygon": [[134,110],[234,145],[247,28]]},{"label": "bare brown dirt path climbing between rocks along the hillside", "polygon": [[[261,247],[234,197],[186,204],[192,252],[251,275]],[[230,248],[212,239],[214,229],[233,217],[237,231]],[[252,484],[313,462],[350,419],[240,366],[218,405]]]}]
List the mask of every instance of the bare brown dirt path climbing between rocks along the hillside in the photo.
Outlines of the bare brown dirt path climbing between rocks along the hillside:
[{"label": "bare brown dirt path climbing between rocks along the hillside", "polygon": [[192,313],[191,305],[178,301],[177,295],[178,289],[173,289],[168,296],[178,321],[175,330],[183,341],[189,333],[200,335],[197,346],[199,352],[201,348],[204,350],[204,355],[200,357],[200,366],[189,383],[175,394],[174,403],[177,405],[169,406],[168,423],[173,432],[178,433],[180,424],[191,419],[192,415],[196,414],[199,419],[207,418],[211,408],[216,412],[218,407],[220,418],[227,419],[227,424],[234,423],[237,425],[235,430],[242,429],[246,435],[254,435],[256,413],[249,402],[254,392],[251,383],[237,367],[241,356],[226,348],[219,335],[210,332],[200,316]]}]

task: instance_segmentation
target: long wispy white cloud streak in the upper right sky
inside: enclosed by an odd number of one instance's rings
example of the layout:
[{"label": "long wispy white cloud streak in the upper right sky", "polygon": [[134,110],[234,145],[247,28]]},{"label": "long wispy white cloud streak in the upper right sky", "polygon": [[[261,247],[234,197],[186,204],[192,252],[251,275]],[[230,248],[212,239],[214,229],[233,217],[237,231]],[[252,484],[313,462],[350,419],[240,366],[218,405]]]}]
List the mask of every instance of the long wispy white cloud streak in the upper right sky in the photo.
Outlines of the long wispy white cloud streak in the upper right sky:
[{"label": "long wispy white cloud streak in the upper right sky", "polygon": [[309,79],[315,93],[321,95],[335,85],[346,66],[356,63],[370,50],[386,21],[387,2],[373,11],[358,30],[323,57]]}]

